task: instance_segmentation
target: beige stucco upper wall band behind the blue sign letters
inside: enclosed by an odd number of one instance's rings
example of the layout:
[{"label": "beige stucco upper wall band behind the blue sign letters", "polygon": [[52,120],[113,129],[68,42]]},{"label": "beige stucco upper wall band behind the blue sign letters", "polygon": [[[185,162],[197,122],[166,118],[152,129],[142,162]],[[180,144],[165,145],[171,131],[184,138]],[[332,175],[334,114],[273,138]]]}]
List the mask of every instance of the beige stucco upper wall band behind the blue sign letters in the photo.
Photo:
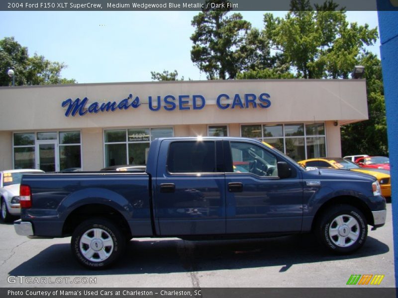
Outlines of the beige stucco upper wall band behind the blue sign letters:
[{"label": "beige stucco upper wall band behind the blue sign letters", "polygon": [[[84,116],[65,116],[67,99],[88,98],[88,107],[116,101],[132,94],[139,97],[138,108],[113,112],[87,113]],[[228,94],[229,100],[222,99],[223,105],[232,104],[235,94],[244,102],[245,94],[260,97],[270,95],[269,108],[220,109],[216,99]],[[203,109],[193,110],[195,94],[205,98]],[[190,110],[151,111],[148,97],[162,100],[167,95],[187,95]],[[130,100],[132,101],[132,100]],[[51,86],[20,86],[0,88],[0,130],[63,130],[103,127],[132,126],[173,126],[207,125],[226,123],[287,123],[339,120],[341,123],[368,119],[366,87],[364,80],[226,80],[226,81],[185,81],[185,82],[143,82],[111,84],[75,84]],[[43,117],[45,115],[45,117]],[[18,116],[18,121],[13,121]]]}]

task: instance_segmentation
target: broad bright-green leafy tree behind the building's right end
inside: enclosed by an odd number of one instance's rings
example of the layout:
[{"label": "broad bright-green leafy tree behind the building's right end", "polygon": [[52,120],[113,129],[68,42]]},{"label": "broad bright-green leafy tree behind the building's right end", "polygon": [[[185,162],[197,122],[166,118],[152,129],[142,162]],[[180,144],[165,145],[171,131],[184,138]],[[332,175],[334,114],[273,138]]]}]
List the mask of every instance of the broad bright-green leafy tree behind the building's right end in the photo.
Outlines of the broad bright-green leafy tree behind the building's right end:
[{"label": "broad bright-green leafy tree behind the building's right end", "polygon": [[331,1],[315,6],[293,0],[285,18],[264,15],[271,48],[302,78],[348,78],[365,46],[373,45],[377,28],[346,21],[344,10]]}]

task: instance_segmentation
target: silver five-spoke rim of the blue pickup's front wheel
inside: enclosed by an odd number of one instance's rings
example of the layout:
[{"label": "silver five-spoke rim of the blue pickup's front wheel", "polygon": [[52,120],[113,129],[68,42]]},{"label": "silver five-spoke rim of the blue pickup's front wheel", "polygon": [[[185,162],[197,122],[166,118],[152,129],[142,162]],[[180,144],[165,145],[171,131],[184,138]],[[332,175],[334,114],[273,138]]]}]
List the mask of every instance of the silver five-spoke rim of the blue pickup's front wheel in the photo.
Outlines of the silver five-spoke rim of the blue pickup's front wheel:
[{"label": "silver five-spoke rim of the blue pickup's front wheel", "polygon": [[329,226],[329,236],[339,247],[349,247],[359,238],[360,227],[358,221],[350,215],[339,215]]}]

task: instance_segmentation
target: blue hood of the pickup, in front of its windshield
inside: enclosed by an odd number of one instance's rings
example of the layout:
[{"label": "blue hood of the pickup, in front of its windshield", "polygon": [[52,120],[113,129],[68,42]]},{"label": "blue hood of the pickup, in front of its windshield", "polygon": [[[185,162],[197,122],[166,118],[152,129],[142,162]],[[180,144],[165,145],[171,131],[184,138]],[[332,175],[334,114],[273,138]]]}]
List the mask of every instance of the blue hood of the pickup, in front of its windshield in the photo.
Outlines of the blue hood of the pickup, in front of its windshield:
[{"label": "blue hood of the pickup, in front of its windshield", "polygon": [[376,181],[376,178],[369,174],[354,172],[350,170],[317,168],[317,167],[307,167],[304,171],[303,177],[304,179],[360,180],[360,181],[368,181],[371,183]]}]

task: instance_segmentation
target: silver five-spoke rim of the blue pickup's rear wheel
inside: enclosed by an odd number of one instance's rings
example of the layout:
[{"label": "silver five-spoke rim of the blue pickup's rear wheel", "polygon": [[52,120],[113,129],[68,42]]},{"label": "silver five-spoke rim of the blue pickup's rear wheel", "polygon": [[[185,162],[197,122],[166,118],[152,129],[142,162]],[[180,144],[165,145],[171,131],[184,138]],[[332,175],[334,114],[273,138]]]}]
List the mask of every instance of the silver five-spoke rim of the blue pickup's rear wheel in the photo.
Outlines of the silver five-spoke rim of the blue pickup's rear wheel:
[{"label": "silver five-spoke rim of the blue pickup's rear wheel", "polygon": [[87,230],[80,239],[80,251],[92,262],[103,262],[113,251],[113,239],[101,228]]}]

